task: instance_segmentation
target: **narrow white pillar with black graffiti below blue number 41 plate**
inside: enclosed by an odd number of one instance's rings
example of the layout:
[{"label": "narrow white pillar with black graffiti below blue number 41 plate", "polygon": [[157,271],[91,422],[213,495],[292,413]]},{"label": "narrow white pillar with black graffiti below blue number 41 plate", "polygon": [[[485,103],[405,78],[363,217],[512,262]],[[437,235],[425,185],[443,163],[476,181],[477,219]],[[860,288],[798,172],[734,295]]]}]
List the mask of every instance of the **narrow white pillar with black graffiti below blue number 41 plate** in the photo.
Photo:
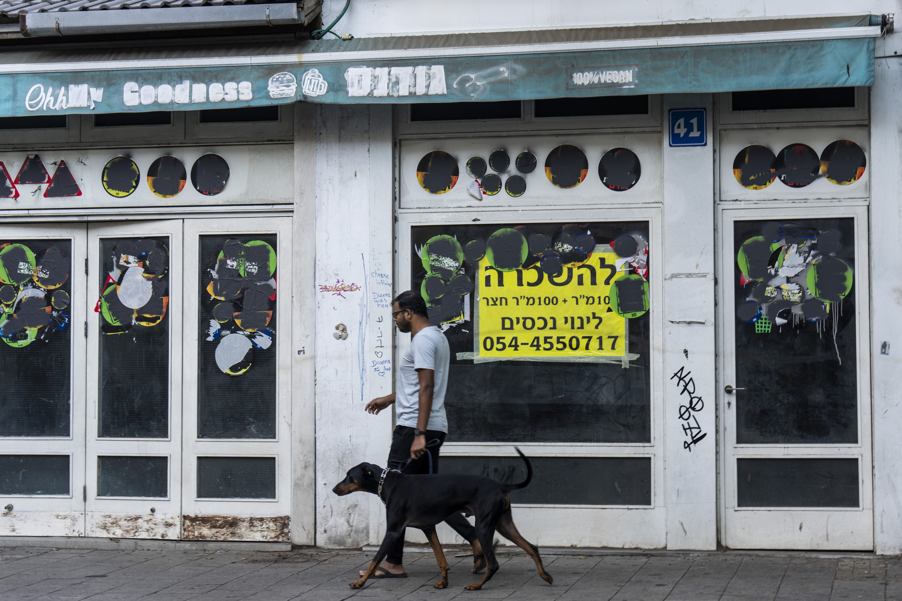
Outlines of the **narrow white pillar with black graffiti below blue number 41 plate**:
[{"label": "narrow white pillar with black graffiti below blue number 41 plate", "polygon": [[[671,108],[705,108],[708,143],[669,147]],[[714,136],[711,94],[664,97],[664,436],[667,549],[717,548],[717,436],[714,391]],[[673,323],[701,321],[703,323]],[[670,379],[691,372],[704,407],[694,414],[707,436],[688,450],[679,419],[684,386]],[[691,390],[691,389],[690,389]]]}]

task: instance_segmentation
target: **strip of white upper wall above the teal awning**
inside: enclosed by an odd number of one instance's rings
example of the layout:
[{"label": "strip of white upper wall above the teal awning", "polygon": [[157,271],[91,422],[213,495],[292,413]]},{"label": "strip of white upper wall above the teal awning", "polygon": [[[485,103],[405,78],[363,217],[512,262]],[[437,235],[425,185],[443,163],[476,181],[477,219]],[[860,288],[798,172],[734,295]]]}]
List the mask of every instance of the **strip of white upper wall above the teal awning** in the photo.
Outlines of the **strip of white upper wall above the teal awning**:
[{"label": "strip of white upper wall above the teal awning", "polygon": [[[345,0],[323,0],[323,24],[341,13]],[[661,23],[706,19],[813,16],[821,14],[885,14],[902,18],[898,0],[351,0],[338,34],[364,38],[411,33],[498,32],[627,23]]]}]

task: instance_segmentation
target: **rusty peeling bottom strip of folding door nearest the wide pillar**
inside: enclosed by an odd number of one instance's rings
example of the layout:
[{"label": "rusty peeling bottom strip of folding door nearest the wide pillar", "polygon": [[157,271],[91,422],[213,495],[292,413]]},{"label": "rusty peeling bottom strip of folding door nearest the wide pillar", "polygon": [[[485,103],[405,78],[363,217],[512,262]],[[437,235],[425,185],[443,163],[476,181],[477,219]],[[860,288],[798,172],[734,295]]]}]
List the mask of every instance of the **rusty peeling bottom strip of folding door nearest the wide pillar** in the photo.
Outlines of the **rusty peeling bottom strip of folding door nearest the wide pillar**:
[{"label": "rusty peeling bottom strip of folding door nearest the wide pillar", "polygon": [[244,515],[185,515],[182,538],[186,541],[288,541],[291,517]]}]

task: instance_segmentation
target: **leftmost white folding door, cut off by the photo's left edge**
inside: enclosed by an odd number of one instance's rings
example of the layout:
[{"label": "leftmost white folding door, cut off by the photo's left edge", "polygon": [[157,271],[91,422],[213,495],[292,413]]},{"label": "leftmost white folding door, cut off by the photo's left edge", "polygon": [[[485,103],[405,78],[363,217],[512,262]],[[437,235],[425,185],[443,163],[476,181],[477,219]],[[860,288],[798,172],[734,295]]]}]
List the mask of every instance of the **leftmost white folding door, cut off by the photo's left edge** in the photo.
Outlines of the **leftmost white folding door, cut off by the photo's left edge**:
[{"label": "leftmost white folding door, cut off by the photo's left edge", "polygon": [[84,225],[0,227],[0,533],[85,533]]}]

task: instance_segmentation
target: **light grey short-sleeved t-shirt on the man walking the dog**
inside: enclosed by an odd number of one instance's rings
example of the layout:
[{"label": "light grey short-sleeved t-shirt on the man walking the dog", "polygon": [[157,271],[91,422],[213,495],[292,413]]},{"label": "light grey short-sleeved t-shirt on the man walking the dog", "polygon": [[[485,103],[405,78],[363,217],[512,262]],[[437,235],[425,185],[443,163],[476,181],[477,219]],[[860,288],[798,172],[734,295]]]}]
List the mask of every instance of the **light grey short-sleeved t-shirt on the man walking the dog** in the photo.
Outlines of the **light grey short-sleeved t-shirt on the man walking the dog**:
[{"label": "light grey short-sleeved t-shirt on the man walking the dog", "polygon": [[432,392],[432,411],[427,430],[448,431],[445,416],[445,389],[448,385],[448,361],[451,349],[442,331],[435,326],[423,328],[410,340],[410,347],[400,358],[400,369],[395,383],[395,417],[399,426],[417,427],[419,417],[418,369],[431,369],[436,373]]}]

